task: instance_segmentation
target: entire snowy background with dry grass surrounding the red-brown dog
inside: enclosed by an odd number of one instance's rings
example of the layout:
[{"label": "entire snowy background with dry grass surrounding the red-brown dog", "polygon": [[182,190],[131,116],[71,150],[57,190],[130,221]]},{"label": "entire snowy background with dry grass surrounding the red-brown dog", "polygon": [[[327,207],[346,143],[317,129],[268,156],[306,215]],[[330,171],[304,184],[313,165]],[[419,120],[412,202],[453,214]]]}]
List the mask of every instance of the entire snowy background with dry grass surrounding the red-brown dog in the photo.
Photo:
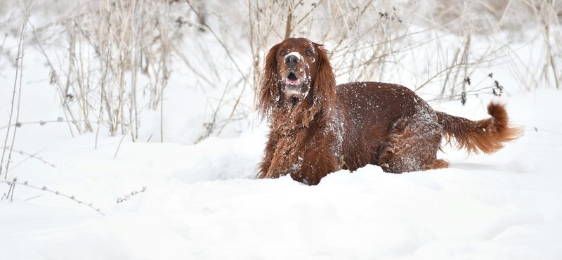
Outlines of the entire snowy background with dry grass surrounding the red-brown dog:
[{"label": "entire snowy background with dry grass surrounding the red-brown dog", "polygon": [[[562,4],[269,2],[1,1],[0,259],[562,259]],[[445,146],[449,169],[256,180],[287,34],[338,83],[469,119],[499,101],[524,135]]]}]

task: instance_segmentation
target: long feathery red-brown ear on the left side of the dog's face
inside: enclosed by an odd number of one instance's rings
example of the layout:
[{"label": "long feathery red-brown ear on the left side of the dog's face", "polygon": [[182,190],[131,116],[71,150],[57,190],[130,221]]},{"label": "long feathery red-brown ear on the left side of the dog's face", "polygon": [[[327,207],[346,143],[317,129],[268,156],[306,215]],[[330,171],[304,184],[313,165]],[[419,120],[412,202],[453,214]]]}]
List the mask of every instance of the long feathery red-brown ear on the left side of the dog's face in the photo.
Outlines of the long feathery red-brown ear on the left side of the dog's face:
[{"label": "long feathery red-brown ear on the left side of the dog's face", "polygon": [[280,44],[271,47],[266,56],[266,64],[261,75],[258,110],[262,117],[269,114],[280,100],[280,77],[277,74],[277,50]]}]

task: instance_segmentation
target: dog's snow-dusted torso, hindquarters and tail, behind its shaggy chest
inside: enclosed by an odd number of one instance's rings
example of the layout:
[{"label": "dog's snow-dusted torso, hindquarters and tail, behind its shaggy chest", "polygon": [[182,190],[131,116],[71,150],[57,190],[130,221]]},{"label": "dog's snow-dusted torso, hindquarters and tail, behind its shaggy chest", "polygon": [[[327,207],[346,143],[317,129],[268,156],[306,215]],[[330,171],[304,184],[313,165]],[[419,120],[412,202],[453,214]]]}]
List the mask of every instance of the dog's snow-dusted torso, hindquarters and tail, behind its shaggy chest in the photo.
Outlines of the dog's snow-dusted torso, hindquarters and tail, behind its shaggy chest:
[{"label": "dog's snow-dusted torso, hindquarters and tail, behind its shaggy chest", "polygon": [[491,153],[518,138],[503,105],[491,103],[488,119],[471,121],[434,111],[425,100],[398,84],[354,82],[336,86],[337,107],[344,110],[346,167],[380,165],[400,173],[447,167],[436,159],[441,138],[457,140],[469,152]]}]

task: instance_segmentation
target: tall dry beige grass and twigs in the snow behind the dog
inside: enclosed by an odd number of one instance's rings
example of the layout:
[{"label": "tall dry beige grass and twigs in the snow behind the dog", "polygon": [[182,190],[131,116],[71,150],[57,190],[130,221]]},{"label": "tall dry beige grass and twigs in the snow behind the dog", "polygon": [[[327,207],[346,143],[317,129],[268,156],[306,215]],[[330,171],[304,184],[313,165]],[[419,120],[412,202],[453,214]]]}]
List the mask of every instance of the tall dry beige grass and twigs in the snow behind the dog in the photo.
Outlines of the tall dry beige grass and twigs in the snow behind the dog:
[{"label": "tall dry beige grass and twigs in the snow behind the dog", "polygon": [[[490,86],[484,89],[492,93],[493,79],[485,77],[476,84],[470,84],[470,79],[479,68],[500,60],[518,67],[514,77],[529,89],[560,87],[559,1],[54,3],[39,6],[38,15],[51,22],[32,24],[28,34],[51,68],[51,84],[65,112],[63,122],[68,122],[72,134],[109,131],[129,134],[135,141],[143,111],[158,111],[161,118],[172,116],[164,110],[164,93],[178,64],[192,74],[192,87],[224,88],[218,91],[220,98],[209,99],[211,113],[196,140],[219,134],[227,124],[251,115],[254,108],[243,102],[244,97],[254,96],[255,107],[263,58],[270,46],[285,37],[308,37],[326,44],[339,82],[397,82],[417,91],[438,88],[438,100],[461,98],[483,86]],[[22,21],[21,12],[11,10],[9,4],[0,4],[0,27],[8,34]],[[540,67],[525,67],[525,61],[514,54],[510,44],[518,39],[511,34],[521,30],[536,30],[544,39]],[[452,37],[456,43],[443,43],[442,39]],[[490,46],[475,50],[476,41],[490,42]],[[195,60],[192,53],[202,54]],[[224,67],[232,73],[225,76]],[[228,111],[223,113],[226,117],[219,116],[218,110]],[[162,124],[160,141],[165,136]]]}]

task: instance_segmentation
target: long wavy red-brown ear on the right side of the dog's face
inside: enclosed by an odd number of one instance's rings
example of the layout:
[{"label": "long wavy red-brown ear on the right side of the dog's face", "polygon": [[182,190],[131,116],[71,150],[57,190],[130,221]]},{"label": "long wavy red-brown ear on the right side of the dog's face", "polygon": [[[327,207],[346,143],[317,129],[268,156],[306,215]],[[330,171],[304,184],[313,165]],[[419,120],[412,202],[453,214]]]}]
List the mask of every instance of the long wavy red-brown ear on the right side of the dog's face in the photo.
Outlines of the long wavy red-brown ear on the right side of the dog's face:
[{"label": "long wavy red-brown ear on the right side of the dog's face", "polygon": [[313,43],[313,45],[316,53],[318,53],[318,70],[313,86],[314,102],[320,101],[320,106],[327,108],[336,100],[336,78],[324,46],[316,43]]}]

